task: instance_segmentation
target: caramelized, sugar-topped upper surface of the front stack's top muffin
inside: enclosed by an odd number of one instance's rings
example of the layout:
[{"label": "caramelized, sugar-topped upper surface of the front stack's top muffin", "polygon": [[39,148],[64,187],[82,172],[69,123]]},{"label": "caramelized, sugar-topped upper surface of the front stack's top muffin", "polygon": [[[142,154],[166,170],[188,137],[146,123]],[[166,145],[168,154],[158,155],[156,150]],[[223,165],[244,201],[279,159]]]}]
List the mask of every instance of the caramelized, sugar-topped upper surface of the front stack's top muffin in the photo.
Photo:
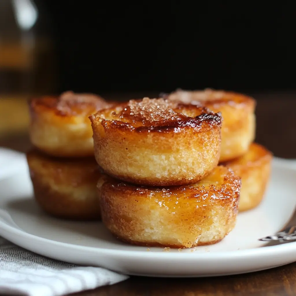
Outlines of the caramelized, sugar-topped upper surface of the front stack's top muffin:
[{"label": "caramelized, sugar-topped upper surface of the front stack's top muffin", "polygon": [[221,124],[221,116],[202,105],[192,106],[163,98],[130,100],[100,110],[90,119],[99,121],[104,128],[116,126],[138,132],[177,131],[189,126],[198,128],[202,122],[209,126]]}]

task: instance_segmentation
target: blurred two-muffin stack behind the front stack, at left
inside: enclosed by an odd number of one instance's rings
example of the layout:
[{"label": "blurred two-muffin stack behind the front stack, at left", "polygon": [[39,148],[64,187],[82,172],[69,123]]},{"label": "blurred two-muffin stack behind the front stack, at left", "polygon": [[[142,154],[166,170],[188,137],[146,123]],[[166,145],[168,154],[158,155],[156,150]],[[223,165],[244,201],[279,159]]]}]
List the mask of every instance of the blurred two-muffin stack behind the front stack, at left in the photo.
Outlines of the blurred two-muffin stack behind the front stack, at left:
[{"label": "blurred two-muffin stack behind the front stack, at left", "polygon": [[34,196],[48,214],[75,220],[100,218],[89,115],[108,104],[93,94],[32,98],[27,153]]}]

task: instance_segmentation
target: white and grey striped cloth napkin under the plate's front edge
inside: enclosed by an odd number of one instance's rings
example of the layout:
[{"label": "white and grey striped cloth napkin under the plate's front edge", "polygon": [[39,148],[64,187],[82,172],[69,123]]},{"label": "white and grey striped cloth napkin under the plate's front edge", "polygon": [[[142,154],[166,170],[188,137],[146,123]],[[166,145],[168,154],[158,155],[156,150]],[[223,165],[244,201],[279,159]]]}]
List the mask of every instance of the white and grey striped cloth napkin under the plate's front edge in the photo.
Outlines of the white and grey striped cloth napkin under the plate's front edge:
[{"label": "white and grey striped cloth napkin under the plate's front edge", "polygon": [[112,285],[127,278],[100,267],[52,260],[0,238],[0,294],[67,295]]}]

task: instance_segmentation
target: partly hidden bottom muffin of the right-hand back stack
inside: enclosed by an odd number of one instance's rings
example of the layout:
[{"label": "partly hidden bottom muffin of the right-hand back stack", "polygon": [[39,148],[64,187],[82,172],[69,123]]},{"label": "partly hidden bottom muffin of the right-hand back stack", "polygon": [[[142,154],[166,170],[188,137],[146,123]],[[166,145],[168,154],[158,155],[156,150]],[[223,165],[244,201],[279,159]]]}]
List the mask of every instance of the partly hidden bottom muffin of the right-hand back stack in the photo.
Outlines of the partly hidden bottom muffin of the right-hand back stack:
[{"label": "partly hidden bottom muffin of the right-hand back stack", "polygon": [[271,160],[271,152],[259,144],[252,143],[245,155],[224,163],[242,178],[240,212],[253,209],[260,204],[270,177]]}]

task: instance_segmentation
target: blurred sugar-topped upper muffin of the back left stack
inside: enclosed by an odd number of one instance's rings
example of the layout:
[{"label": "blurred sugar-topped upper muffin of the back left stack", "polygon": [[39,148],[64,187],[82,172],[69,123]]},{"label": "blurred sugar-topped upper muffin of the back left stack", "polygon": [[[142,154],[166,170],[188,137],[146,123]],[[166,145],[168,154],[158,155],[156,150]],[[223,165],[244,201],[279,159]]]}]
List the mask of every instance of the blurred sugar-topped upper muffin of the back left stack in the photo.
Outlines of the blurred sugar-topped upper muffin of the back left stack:
[{"label": "blurred sugar-topped upper muffin of the back left stack", "polygon": [[89,115],[109,104],[94,94],[74,94],[32,98],[30,107],[31,143],[56,157],[94,155]]}]

